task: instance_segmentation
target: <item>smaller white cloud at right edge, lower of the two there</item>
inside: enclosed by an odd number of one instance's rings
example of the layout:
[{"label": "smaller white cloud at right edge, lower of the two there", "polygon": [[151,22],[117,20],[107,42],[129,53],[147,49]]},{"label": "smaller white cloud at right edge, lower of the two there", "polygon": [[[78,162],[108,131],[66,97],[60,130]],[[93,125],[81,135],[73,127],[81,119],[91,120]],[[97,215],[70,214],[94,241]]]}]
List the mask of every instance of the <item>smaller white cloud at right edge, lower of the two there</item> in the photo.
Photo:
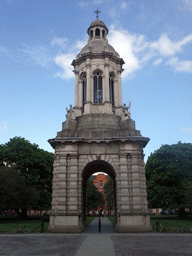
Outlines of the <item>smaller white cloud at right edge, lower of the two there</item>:
[{"label": "smaller white cloud at right edge, lower of the two there", "polygon": [[192,61],[190,60],[179,60],[177,57],[172,57],[166,64],[173,67],[177,72],[192,73]]}]

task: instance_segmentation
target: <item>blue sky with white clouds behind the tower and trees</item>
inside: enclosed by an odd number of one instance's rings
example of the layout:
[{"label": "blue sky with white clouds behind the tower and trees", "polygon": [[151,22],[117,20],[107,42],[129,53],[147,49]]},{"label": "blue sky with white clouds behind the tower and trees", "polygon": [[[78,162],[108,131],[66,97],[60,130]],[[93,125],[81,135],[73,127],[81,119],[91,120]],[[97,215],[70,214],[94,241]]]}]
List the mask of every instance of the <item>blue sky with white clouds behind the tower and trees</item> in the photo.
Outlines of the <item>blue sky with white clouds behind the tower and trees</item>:
[{"label": "blue sky with white clouds behind the tower and trees", "polygon": [[125,61],[123,103],[150,138],[145,161],[192,142],[192,0],[1,0],[0,144],[20,136],[54,152],[47,140],[74,106],[71,63],[97,9]]}]

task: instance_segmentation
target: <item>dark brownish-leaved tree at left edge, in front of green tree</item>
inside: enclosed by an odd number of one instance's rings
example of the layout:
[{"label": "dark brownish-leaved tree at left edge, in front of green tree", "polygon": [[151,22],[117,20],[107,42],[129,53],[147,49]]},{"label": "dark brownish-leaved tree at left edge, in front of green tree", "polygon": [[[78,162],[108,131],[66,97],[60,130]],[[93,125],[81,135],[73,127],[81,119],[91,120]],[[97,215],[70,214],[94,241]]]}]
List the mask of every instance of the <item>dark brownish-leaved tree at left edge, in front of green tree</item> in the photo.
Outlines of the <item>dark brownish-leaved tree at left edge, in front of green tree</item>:
[{"label": "dark brownish-leaved tree at left edge, in front of green tree", "polygon": [[25,178],[14,166],[0,167],[0,210],[14,209],[23,218],[37,199],[37,190],[26,185]]}]

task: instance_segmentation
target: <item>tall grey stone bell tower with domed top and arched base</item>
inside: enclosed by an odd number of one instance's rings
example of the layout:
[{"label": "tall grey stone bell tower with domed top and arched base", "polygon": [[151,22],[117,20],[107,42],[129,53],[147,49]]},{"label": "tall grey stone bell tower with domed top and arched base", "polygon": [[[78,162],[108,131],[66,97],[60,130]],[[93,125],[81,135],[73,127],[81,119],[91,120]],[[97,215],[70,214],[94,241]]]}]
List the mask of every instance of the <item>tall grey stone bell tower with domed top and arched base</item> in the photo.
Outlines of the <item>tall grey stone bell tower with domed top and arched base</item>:
[{"label": "tall grey stone bell tower with domed top and arched base", "polygon": [[62,131],[49,143],[55,149],[50,232],[82,232],[86,225],[86,182],[95,172],[115,184],[117,232],[151,231],[142,137],[122,105],[124,61],[108,43],[99,19],[76,59],[75,106],[67,109]]}]

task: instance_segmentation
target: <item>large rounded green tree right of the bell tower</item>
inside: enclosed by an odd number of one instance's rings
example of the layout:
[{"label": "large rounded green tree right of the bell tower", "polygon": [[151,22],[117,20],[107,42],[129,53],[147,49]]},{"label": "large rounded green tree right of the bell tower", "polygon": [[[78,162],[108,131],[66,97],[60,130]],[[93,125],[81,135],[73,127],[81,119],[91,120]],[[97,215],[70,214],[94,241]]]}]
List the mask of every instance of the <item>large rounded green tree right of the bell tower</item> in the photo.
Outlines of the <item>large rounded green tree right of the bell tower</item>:
[{"label": "large rounded green tree right of the bell tower", "polygon": [[192,181],[192,144],[163,145],[147,160],[149,207],[189,207],[187,191]]}]

